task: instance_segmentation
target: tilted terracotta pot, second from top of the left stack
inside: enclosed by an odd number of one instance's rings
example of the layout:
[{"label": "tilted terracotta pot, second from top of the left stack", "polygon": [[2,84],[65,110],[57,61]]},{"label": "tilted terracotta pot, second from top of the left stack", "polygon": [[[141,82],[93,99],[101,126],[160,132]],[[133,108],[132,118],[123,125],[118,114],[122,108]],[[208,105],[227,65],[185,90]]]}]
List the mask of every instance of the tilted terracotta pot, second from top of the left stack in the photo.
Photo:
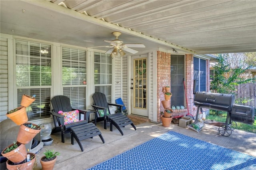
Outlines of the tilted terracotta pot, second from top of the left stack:
[{"label": "tilted terracotta pot, second from top of the left stack", "polygon": [[8,118],[10,118],[16,125],[22,125],[23,123],[26,123],[28,121],[28,115],[26,112],[26,107],[18,107],[16,108],[18,111],[6,114]]}]

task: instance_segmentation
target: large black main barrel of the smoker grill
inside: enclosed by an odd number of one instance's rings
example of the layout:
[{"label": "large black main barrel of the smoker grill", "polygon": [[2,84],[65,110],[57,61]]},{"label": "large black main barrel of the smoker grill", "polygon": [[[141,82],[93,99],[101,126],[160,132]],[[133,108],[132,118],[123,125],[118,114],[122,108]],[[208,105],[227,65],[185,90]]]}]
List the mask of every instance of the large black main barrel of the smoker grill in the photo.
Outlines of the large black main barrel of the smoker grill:
[{"label": "large black main barrel of the smoker grill", "polygon": [[230,112],[235,102],[235,96],[222,93],[196,92],[194,103],[196,107]]}]

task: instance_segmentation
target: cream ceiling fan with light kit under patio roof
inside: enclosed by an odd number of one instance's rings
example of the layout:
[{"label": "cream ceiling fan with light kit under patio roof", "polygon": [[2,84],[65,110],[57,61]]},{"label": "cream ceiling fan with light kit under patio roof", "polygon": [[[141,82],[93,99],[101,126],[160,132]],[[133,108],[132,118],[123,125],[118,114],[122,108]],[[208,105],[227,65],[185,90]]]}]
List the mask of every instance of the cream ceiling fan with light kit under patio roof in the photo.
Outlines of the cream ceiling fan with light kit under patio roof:
[{"label": "cream ceiling fan with light kit under patio roof", "polygon": [[130,53],[137,53],[138,51],[135,49],[132,49],[130,47],[145,47],[142,43],[127,43],[124,44],[122,40],[118,40],[118,37],[121,35],[121,32],[112,32],[112,34],[116,37],[115,40],[107,41],[104,40],[104,42],[110,43],[109,46],[103,46],[103,47],[111,47],[108,49],[108,51],[105,52],[105,54],[110,54],[111,57],[118,56],[118,52],[121,56],[125,55],[124,51],[130,52]]}]

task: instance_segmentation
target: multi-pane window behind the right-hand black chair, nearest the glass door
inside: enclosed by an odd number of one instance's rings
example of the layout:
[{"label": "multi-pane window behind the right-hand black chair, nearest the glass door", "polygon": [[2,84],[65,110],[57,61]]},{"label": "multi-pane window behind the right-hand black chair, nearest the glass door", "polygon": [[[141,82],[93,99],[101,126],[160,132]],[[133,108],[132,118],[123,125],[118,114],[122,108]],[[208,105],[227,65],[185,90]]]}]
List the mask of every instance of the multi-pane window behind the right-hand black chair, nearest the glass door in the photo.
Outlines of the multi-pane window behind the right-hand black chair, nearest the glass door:
[{"label": "multi-pane window behind the right-hand black chair, nearest the glass door", "polygon": [[94,91],[106,95],[112,100],[112,58],[109,54],[94,53]]}]

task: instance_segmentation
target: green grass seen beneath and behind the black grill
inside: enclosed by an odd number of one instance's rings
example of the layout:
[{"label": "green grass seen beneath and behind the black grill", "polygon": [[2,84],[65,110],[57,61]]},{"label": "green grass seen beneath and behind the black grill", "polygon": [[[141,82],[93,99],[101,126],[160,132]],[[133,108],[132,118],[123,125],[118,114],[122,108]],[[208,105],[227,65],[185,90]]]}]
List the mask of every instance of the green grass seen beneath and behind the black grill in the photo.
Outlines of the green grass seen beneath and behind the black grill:
[{"label": "green grass seen beneath and behind the black grill", "polygon": [[[206,116],[206,119],[211,119],[211,120],[214,120],[214,121],[225,123],[226,122],[226,117],[227,117],[227,113],[224,113],[222,115],[215,115],[215,114],[210,113],[210,115]],[[248,124],[239,123],[239,122],[236,122],[236,123],[237,123],[237,128],[236,129],[244,130],[246,132],[256,133],[256,121],[254,121],[253,125],[248,125]]]}]

